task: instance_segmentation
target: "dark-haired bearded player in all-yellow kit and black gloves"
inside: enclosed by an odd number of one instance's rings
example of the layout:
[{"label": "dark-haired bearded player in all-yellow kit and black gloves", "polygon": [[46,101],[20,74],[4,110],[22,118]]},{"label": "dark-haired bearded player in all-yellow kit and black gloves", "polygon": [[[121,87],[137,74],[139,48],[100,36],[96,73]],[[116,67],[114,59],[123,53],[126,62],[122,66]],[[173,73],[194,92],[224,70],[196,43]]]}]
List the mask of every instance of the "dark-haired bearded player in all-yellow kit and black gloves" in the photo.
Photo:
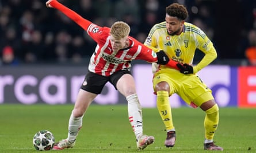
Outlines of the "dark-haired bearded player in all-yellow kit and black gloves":
[{"label": "dark-haired bearded player in all-yellow kit and black gloves", "polygon": [[[173,147],[176,132],[171,115],[169,96],[177,93],[187,104],[200,107],[205,112],[204,150],[223,150],[213,143],[213,136],[219,123],[219,107],[212,91],[197,76],[197,72],[209,65],[217,57],[216,50],[204,32],[192,23],[185,22],[188,11],[183,5],[173,3],[166,7],[165,22],[152,27],[144,44],[155,51],[165,50],[166,54],[180,62],[181,70],[165,65],[152,64],[153,85],[156,92],[156,105],[166,126],[166,147]],[[196,49],[205,56],[195,66],[192,65]]]}]

